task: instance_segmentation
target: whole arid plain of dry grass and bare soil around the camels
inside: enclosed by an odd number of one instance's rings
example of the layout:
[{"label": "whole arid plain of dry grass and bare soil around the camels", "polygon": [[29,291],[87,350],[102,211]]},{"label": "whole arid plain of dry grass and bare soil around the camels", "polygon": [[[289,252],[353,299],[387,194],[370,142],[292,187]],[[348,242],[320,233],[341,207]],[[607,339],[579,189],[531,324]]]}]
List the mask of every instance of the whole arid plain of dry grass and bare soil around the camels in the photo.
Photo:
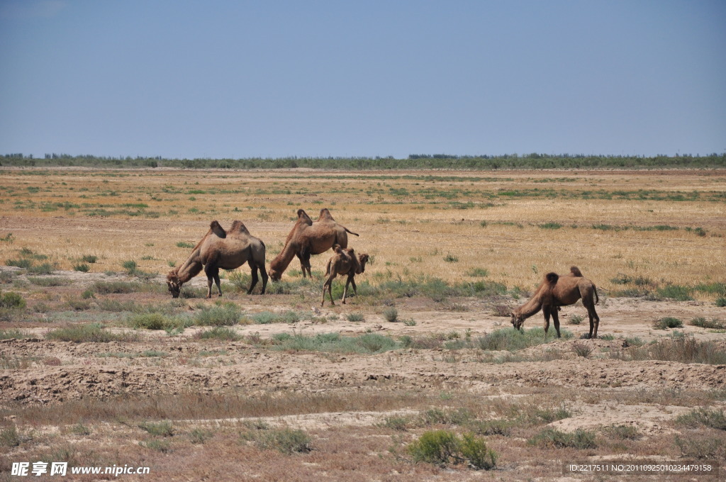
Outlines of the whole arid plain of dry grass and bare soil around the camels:
[{"label": "whole arid plain of dry grass and bare soil around the camels", "polygon": [[[298,208],[330,209],[371,256],[348,304],[320,307],[330,252],[312,281],[293,261],[246,295],[242,266],[221,298],[205,300],[200,274],[172,300],[164,276],[210,221],[243,221],[269,268]],[[129,481],[723,464],[725,208],[723,170],[3,168],[0,480],[36,460],[151,467]],[[581,303],[560,312],[559,340],[542,314],[515,332],[510,310],[570,266],[597,285],[600,338],[583,337]],[[436,430],[486,442],[496,467],[417,462]]]}]

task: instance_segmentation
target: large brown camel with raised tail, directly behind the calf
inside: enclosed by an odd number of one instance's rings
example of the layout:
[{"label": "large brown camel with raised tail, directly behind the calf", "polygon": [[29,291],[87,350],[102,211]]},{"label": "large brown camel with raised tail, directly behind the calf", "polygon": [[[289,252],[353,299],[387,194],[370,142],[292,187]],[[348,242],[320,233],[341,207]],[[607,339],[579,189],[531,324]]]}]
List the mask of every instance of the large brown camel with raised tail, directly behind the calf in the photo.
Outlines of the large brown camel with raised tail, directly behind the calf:
[{"label": "large brown camel with raised tail, directly behind the calf", "polygon": [[304,210],[298,209],[298,220],[295,221],[295,226],[290,230],[290,234],[287,234],[285,246],[280,254],[270,262],[272,281],[280,281],[282,273],[295,256],[300,259],[303,278],[306,274],[312,277],[310,256],[325,253],[333,248],[333,245],[339,245],[343,249],[348,248],[348,233],[358,236],[346,226],[335,222],[327,208],[320,210],[317,221],[313,221]]}]

